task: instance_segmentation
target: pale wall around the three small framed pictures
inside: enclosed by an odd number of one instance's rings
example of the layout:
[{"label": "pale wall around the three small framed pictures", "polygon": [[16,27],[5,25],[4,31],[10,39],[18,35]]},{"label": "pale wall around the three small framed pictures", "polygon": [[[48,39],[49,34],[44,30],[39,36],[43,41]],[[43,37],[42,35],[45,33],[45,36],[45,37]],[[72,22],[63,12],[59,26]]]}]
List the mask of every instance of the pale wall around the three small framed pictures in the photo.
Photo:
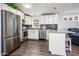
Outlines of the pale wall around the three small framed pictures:
[{"label": "pale wall around the three small framed pictures", "polygon": [[79,15],[79,12],[75,12],[75,10],[72,12],[63,12],[63,13],[58,13],[58,29],[59,30],[67,30],[68,28],[79,28],[79,20],[74,21],[74,20],[64,20],[63,16],[74,16],[74,15]]}]

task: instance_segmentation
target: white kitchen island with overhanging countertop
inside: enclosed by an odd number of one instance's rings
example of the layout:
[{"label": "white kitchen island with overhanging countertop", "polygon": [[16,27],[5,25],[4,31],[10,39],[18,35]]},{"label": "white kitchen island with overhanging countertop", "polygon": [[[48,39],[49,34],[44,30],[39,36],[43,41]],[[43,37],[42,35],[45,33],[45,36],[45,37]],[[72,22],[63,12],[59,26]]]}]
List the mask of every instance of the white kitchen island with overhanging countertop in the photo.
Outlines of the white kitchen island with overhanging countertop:
[{"label": "white kitchen island with overhanging countertop", "polygon": [[70,31],[49,31],[49,51],[55,55],[66,55],[65,40],[67,33],[74,33]]}]

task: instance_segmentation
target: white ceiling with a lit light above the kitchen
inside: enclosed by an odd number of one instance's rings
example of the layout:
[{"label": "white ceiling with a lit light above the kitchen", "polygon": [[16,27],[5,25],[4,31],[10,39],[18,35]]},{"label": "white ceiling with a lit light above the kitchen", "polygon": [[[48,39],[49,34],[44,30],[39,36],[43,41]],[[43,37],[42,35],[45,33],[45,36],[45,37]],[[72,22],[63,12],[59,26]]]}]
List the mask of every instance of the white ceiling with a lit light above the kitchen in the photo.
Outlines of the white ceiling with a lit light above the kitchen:
[{"label": "white ceiling with a lit light above the kitchen", "polygon": [[24,4],[17,3],[16,5],[18,9],[32,16],[79,9],[79,3],[29,3],[31,5],[29,9],[25,8]]}]

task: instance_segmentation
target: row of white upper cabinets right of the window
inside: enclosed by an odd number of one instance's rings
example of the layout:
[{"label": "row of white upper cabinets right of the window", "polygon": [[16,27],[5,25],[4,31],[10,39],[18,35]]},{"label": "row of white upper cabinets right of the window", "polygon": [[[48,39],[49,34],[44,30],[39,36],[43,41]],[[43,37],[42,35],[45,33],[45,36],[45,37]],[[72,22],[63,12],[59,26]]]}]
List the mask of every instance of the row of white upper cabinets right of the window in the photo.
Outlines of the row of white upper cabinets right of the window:
[{"label": "row of white upper cabinets right of the window", "polygon": [[57,15],[44,15],[41,16],[40,24],[57,24]]}]

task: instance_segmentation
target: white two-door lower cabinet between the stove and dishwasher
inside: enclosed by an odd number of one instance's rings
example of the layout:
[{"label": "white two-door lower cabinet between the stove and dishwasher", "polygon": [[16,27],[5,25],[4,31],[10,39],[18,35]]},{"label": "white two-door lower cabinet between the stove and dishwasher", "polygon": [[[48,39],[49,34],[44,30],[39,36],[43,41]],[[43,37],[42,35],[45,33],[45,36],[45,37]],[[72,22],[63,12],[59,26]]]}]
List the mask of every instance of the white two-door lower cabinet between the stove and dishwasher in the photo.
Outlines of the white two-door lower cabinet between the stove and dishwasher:
[{"label": "white two-door lower cabinet between the stove and dishwasher", "polygon": [[39,40],[39,30],[28,30],[28,39]]}]

